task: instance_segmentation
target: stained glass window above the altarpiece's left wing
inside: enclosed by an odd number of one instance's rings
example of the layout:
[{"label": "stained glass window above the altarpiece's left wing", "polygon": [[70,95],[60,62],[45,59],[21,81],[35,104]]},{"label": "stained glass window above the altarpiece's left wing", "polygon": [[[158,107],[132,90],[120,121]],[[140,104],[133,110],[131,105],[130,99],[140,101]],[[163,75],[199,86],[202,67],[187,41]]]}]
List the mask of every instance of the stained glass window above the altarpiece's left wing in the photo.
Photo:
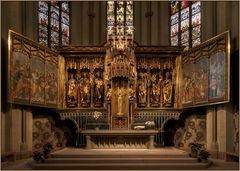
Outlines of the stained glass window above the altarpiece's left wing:
[{"label": "stained glass window above the altarpiece's left wing", "polygon": [[46,46],[69,44],[69,2],[39,1],[39,42]]}]

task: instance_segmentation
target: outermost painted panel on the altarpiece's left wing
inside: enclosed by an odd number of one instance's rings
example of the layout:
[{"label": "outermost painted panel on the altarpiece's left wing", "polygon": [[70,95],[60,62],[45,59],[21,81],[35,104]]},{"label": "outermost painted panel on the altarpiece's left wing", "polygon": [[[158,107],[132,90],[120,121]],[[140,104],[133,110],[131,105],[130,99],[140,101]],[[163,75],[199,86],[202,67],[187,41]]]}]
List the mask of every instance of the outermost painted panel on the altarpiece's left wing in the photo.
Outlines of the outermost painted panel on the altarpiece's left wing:
[{"label": "outermost painted panel on the altarpiece's left wing", "polygon": [[29,102],[29,75],[29,56],[20,51],[13,52],[14,101]]}]

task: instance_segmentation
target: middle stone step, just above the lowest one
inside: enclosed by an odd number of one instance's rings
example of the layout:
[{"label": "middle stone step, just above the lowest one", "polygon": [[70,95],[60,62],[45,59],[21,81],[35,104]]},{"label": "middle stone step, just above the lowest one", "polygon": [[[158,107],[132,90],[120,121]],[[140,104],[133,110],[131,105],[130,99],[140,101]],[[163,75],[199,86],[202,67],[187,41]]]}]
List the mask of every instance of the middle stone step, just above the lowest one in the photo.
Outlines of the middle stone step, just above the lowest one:
[{"label": "middle stone step, just above the lowest one", "polygon": [[50,158],[45,163],[196,163],[196,158]]}]

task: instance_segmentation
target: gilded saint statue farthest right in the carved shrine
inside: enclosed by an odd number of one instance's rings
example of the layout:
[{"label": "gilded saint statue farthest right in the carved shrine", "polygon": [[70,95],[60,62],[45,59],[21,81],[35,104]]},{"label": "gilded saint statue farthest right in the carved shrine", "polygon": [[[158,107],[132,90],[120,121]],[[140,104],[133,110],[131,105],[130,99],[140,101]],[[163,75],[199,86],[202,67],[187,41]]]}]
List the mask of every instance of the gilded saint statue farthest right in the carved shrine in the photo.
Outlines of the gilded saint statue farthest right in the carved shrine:
[{"label": "gilded saint statue farthest right in the carved shrine", "polygon": [[170,78],[170,72],[166,72],[166,78],[163,81],[163,105],[172,106],[173,82]]}]

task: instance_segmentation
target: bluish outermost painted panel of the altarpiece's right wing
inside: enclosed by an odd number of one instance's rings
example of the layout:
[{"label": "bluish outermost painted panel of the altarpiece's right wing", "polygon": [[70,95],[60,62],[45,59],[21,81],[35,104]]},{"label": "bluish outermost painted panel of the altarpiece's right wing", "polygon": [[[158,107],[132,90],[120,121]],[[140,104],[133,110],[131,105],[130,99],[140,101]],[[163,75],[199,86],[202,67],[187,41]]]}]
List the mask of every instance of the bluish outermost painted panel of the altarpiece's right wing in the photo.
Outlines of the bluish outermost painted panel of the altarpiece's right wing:
[{"label": "bluish outermost painted panel of the altarpiece's right wing", "polygon": [[209,100],[225,97],[225,52],[219,51],[210,56]]}]

